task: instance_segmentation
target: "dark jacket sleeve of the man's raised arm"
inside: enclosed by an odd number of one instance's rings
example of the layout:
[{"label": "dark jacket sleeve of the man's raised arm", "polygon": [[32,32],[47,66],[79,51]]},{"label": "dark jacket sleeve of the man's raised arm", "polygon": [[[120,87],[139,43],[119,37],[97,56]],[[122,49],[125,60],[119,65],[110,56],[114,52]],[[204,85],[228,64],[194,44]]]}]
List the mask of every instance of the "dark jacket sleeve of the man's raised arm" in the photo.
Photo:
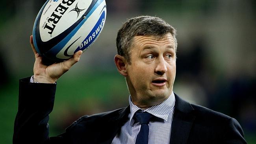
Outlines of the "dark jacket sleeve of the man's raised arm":
[{"label": "dark jacket sleeve of the man's raised arm", "polygon": [[[24,78],[19,82],[13,144],[50,143],[48,120],[54,105],[56,84],[30,83],[29,80]],[[63,137],[54,139],[62,141]]]}]

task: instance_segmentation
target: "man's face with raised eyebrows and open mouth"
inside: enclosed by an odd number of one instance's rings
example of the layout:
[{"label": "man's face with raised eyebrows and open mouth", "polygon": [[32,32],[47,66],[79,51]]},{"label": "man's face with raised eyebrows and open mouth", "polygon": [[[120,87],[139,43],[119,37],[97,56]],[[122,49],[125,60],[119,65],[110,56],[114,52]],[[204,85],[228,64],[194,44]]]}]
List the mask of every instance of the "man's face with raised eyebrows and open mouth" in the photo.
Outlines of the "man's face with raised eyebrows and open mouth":
[{"label": "man's face with raised eyebrows and open mouth", "polygon": [[133,103],[147,107],[166,100],[173,91],[176,74],[173,36],[135,36],[130,58],[126,81]]}]

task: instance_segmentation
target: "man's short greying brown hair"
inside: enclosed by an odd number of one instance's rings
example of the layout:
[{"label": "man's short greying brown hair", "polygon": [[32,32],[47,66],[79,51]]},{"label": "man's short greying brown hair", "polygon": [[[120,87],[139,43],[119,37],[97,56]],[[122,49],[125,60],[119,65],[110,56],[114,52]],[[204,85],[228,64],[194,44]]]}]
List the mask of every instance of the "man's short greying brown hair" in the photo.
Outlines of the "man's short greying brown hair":
[{"label": "man's short greying brown hair", "polygon": [[130,64],[130,49],[132,40],[139,35],[162,37],[171,33],[177,49],[176,30],[163,19],[151,16],[134,17],[127,20],[117,33],[117,54],[122,55]]}]

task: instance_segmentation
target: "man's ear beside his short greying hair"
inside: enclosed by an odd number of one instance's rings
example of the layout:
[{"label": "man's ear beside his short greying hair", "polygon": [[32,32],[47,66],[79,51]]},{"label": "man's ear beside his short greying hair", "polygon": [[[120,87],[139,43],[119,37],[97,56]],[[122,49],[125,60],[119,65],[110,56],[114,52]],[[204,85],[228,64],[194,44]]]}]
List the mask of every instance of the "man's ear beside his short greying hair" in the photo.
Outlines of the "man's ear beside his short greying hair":
[{"label": "man's ear beside his short greying hair", "polygon": [[126,59],[121,55],[115,55],[114,61],[118,72],[123,76],[127,76],[126,65],[128,65],[128,63]]}]

